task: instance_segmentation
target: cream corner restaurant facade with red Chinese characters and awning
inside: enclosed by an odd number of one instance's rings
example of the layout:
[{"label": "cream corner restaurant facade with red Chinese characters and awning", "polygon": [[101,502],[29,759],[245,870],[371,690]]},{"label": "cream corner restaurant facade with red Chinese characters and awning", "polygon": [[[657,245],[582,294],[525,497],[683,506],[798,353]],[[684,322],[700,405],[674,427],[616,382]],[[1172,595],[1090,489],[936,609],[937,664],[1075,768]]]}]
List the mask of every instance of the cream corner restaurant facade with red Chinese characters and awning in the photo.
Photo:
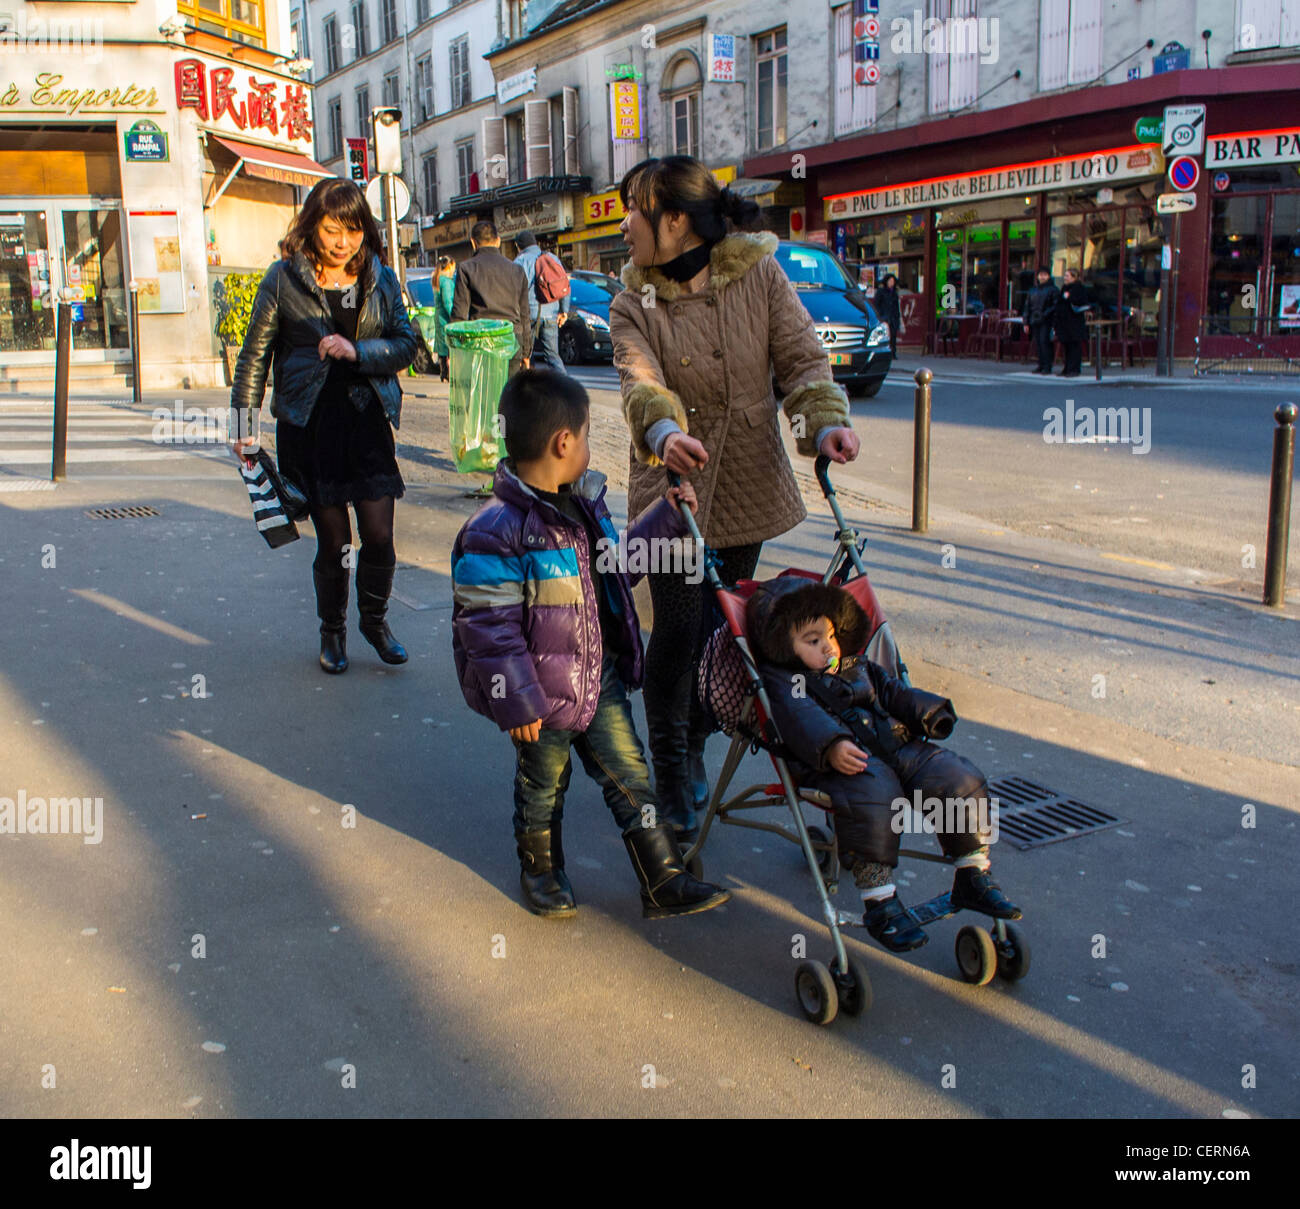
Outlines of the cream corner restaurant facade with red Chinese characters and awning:
[{"label": "cream corner restaurant facade with red Chinese characters and awning", "polygon": [[283,0],[26,4],[0,14],[0,373],[222,385],[217,282],[265,270],[311,157]]}]

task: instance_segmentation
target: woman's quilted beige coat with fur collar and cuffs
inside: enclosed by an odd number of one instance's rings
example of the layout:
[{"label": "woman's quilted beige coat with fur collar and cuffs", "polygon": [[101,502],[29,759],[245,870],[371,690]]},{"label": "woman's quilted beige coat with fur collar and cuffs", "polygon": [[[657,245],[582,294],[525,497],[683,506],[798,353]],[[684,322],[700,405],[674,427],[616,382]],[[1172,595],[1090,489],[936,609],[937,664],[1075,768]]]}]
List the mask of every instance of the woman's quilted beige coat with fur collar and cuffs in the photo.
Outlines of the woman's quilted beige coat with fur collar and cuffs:
[{"label": "woman's quilted beige coat with fur collar and cuffs", "polygon": [[820,429],[850,422],[812,320],[772,256],[777,242],[767,231],[720,239],[708,283],[696,294],[655,268],[628,264],[627,289],[610,307],[632,430],[628,515],[667,486],[646,429],[676,420],[708,450],[708,464],[690,482],[701,532],[715,549],[766,541],[807,515],[781,445],[774,372],[801,454],[815,456]]}]

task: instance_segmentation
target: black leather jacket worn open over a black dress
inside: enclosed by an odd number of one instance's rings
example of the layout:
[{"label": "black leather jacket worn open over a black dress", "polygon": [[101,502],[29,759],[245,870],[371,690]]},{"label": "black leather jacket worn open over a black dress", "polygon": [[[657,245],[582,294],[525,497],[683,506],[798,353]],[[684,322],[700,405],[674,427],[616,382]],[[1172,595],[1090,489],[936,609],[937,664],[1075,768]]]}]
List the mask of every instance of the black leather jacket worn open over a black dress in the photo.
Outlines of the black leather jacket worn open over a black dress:
[{"label": "black leather jacket worn open over a black dress", "polygon": [[[248,332],[235,361],[230,406],[261,407],[268,373],[273,373],[272,415],[306,428],[333,364],[332,358],[320,356],[317,347],[337,330],[325,291],[316,283],[316,272],[306,254],[277,260],[252,302]],[[398,428],[402,387],[396,374],[415,360],[415,332],[396,274],[378,256],[372,256],[369,283],[356,317],[356,360],[348,363],[364,376],[348,386],[348,396],[358,408],[373,393]]]}]

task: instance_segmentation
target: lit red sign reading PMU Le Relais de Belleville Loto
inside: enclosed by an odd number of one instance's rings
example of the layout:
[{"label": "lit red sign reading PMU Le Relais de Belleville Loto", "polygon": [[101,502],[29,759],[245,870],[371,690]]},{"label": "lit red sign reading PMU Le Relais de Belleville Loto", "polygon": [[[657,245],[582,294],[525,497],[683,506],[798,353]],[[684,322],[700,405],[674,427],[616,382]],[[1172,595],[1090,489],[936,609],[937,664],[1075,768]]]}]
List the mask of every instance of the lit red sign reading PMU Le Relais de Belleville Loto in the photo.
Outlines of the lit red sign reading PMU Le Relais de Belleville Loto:
[{"label": "lit red sign reading PMU Le Relais de Belleville Loto", "polygon": [[1112,181],[1157,176],[1164,170],[1164,157],[1154,147],[1140,144],[1114,147],[1088,155],[1060,156],[984,172],[962,172],[950,177],[911,181],[906,185],[884,185],[858,192],[835,194],[823,199],[823,209],[828,222],[842,221],[888,214],[918,205],[942,205],[950,202],[1043,192],[1049,188],[1108,185]]}]

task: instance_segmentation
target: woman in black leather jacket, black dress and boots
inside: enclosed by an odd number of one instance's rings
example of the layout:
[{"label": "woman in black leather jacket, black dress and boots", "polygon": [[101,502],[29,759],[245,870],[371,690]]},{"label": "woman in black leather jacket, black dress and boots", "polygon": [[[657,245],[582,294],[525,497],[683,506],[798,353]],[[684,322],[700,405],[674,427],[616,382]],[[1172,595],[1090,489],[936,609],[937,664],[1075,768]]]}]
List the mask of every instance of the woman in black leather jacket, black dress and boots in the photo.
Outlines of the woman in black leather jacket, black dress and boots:
[{"label": "woman in black leather jacket, black dress and boots", "polygon": [[[238,410],[261,407],[273,372],[280,472],[307,495],[316,529],[312,572],[326,672],[347,670],[348,504],[361,537],[361,636],[385,663],[407,659],[386,616],[396,564],[394,500],[404,491],[393,441],[402,419],[396,374],[415,359],[416,339],[380,247],[361,190],[321,181],[281,242],[283,259],[257,289],[230,393],[234,420],[244,421],[234,432],[250,433],[250,417]],[[235,441],[235,452],[250,443]]]}]

